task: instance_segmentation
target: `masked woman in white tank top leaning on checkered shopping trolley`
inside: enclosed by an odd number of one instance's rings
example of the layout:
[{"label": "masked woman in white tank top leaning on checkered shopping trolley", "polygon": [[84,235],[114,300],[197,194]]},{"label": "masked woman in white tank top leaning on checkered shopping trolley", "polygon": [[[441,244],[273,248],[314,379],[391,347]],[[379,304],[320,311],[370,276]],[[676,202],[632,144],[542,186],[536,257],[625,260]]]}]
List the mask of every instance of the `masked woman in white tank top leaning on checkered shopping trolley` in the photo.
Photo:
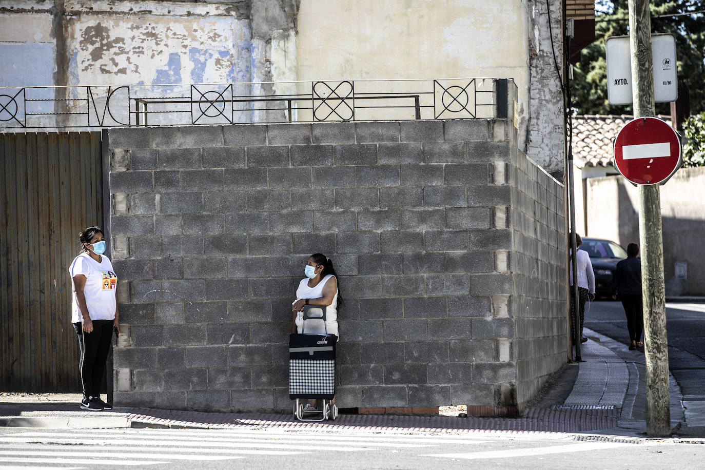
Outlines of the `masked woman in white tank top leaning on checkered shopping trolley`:
[{"label": "masked woman in white tank top leaning on checkered shopping trolley", "polygon": [[338,277],[333,261],[321,253],[312,254],[306,262],[306,277],[296,290],[292,304],[291,333],[304,333],[303,309],[305,305],[326,307],[326,324],[320,320],[306,321],[305,333],[329,333],[338,335],[338,304],[343,299],[338,292]]}]

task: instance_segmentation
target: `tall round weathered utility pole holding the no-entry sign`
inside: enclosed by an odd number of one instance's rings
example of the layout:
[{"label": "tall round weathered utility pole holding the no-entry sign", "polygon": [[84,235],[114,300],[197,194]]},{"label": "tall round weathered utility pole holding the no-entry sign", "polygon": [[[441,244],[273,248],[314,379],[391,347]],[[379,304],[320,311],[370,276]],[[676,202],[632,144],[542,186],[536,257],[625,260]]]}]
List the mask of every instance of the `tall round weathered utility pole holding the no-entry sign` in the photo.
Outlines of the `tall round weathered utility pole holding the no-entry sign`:
[{"label": "tall round weathered utility pole holding the no-entry sign", "polygon": [[[654,64],[651,57],[649,0],[629,0],[634,118],[654,116]],[[666,289],[663,283],[661,200],[658,185],[639,185],[639,242],[646,352],[646,433],[670,434]]]}]

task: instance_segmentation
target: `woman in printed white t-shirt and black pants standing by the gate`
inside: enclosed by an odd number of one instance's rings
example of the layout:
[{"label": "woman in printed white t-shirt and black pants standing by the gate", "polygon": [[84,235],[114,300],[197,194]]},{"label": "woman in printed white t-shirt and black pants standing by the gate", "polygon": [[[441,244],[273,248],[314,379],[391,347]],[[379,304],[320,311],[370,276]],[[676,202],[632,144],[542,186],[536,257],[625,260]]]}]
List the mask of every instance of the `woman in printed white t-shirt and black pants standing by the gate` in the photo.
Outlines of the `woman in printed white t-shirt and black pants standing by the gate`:
[{"label": "woman in printed white t-shirt and black pants standing by the gate", "polygon": [[113,407],[100,399],[100,385],[113,330],[120,334],[115,297],[118,276],[110,259],[103,254],[105,237],[100,228],[89,227],[78,238],[82,253],[75,257],[68,271],[74,294],[71,323],[78,335],[81,352],[83,399],[80,407],[99,411]]}]

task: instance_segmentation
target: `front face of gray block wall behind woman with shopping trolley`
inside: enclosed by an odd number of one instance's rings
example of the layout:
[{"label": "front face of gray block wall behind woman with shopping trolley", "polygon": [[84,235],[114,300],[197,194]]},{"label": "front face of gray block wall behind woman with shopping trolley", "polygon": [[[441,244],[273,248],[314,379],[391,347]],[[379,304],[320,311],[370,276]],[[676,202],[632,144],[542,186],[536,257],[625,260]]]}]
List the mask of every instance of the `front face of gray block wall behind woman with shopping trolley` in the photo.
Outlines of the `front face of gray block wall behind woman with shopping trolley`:
[{"label": "front face of gray block wall behind woman with shopping trolley", "polygon": [[110,130],[116,400],[289,410],[290,304],[324,252],[345,296],[339,406],[515,404],[516,286],[536,276],[510,270],[539,245],[515,249],[506,125]]}]

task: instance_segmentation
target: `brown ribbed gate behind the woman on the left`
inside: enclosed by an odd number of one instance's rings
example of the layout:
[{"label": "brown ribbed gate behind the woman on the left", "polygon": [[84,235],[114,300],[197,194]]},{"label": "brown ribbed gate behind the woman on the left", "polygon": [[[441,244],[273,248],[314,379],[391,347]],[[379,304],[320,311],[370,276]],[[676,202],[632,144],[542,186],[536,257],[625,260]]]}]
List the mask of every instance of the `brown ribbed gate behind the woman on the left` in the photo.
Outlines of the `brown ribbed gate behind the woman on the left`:
[{"label": "brown ribbed gate behind the woman on the left", "polygon": [[68,266],[102,215],[100,132],[0,133],[0,390],[80,392]]}]

